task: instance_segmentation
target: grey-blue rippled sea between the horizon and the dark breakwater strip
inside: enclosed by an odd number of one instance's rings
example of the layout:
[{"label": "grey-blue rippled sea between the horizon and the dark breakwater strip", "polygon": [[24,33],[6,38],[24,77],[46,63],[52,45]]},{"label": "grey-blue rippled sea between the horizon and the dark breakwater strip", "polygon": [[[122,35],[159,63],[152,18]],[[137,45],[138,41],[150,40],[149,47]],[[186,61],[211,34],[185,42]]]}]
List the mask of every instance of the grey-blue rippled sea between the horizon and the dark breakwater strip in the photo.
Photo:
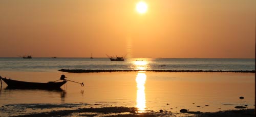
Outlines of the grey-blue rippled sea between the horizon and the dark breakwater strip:
[{"label": "grey-blue rippled sea between the horizon and the dark breakwater strip", "polygon": [[[136,61],[138,60],[138,61]],[[111,62],[109,58],[0,57],[2,71],[92,70],[255,70],[255,59],[236,58],[127,58]]]}]

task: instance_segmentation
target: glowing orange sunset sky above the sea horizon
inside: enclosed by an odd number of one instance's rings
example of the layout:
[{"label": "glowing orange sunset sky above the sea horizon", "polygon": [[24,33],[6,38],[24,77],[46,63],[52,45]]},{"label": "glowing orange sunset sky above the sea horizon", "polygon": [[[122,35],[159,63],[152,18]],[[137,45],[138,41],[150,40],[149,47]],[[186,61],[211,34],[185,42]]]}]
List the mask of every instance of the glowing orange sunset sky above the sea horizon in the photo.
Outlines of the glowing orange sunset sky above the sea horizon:
[{"label": "glowing orange sunset sky above the sea horizon", "polygon": [[254,58],[254,0],[2,0],[0,57]]}]

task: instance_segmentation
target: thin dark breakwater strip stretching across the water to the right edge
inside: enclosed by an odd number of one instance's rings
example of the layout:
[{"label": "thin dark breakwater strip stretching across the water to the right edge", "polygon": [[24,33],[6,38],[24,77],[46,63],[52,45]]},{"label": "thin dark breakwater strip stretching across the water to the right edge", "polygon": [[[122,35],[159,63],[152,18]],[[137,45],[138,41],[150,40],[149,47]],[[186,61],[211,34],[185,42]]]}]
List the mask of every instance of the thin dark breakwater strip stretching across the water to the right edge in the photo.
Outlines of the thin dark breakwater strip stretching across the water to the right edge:
[{"label": "thin dark breakwater strip stretching across the water to the right edge", "polygon": [[234,72],[234,73],[255,73],[255,70],[86,70],[86,69],[60,69],[60,72],[68,73],[99,73],[99,72]]}]

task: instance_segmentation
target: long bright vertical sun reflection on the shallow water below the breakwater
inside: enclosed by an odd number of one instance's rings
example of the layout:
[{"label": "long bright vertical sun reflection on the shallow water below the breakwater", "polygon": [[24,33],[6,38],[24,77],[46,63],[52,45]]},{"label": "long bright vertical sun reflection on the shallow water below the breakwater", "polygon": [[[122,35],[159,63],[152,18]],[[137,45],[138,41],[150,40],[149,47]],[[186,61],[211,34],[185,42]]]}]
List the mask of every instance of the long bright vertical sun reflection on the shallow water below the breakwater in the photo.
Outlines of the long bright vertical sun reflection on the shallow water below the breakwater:
[{"label": "long bright vertical sun reflection on the shallow water below the breakwater", "polygon": [[139,109],[138,112],[145,112],[146,108],[146,97],[145,97],[145,82],[146,82],[146,74],[145,73],[138,73],[136,77],[137,82],[137,108]]}]

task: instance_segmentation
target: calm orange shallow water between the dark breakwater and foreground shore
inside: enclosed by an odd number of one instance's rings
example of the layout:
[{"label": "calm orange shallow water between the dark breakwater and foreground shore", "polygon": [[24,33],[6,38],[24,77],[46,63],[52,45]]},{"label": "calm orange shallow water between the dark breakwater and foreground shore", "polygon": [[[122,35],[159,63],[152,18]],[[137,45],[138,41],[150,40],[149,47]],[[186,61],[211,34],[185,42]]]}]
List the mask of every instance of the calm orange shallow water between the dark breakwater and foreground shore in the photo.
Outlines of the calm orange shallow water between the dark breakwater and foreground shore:
[{"label": "calm orange shallow water between the dark breakwater and foreground shore", "polygon": [[[172,72],[0,72],[11,79],[48,82],[65,74],[70,80],[63,91],[10,90],[3,83],[0,106],[8,104],[75,103],[138,107],[141,111],[219,111],[248,105],[254,108],[254,73]],[[240,96],[245,99],[239,99]],[[193,104],[194,103],[194,104]],[[208,106],[205,106],[208,105]],[[197,107],[200,106],[200,107]],[[4,112],[4,111],[0,111]],[[1,113],[0,113],[1,114]]]}]

